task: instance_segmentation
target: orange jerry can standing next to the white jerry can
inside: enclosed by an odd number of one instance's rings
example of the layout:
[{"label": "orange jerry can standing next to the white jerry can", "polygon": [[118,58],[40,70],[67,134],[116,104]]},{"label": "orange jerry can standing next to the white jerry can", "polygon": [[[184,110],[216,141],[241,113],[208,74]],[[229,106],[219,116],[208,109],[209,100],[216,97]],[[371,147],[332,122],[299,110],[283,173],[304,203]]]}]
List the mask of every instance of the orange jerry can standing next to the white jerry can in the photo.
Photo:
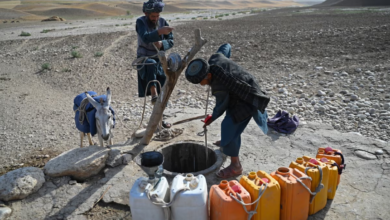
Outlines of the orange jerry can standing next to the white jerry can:
[{"label": "orange jerry can standing next to the white jerry can", "polygon": [[[242,202],[251,203],[251,196],[236,180],[222,180],[219,185],[210,188],[210,220],[247,220],[244,206],[232,198],[240,195]],[[251,206],[246,209],[250,211]]]}]

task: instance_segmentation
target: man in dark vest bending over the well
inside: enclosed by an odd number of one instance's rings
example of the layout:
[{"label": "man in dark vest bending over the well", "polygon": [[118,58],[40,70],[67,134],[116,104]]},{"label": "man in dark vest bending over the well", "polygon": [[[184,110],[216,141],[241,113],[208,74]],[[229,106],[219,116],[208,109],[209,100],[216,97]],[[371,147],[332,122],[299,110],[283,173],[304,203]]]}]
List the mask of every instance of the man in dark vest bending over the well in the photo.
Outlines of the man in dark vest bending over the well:
[{"label": "man in dark vest bending over the well", "polygon": [[270,98],[260,89],[255,78],[235,62],[230,60],[230,44],[222,45],[209,61],[193,60],[187,67],[188,81],[202,86],[210,85],[216,97],[216,105],[210,120],[211,124],[224,112],[226,116],[221,124],[221,140],[216,145],[224,154],[231,157],[231,163],[216,173],[227,179],[242,174],[242,166],[238,157],[241,146],[241,133],[253,117],[264,133],[268,132],[267,111]]}]

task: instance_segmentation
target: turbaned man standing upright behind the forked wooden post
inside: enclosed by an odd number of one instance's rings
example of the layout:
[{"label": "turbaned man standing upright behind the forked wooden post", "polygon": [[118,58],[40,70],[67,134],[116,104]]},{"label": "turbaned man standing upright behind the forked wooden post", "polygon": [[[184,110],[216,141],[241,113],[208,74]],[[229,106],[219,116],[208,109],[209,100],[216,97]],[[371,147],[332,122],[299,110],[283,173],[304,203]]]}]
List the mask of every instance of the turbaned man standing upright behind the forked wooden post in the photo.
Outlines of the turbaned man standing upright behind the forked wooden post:
[{"label": "turbaned man standing upright behind the forked wooden post", "polygon": [[[156,103],[160,88],[156,82],[150,81],[157,80],[162,87],[166,79],[157,57],[157,50],[167,51],[173,47],[173,28],[169,27],[165,19],[160,17],[164,6],[162,0],[144,2],[145,16],[137,19],[135,27],[138,35],[137,58],[145,57],[144,65],[138,66],[138,96],[151,95],[152,104]],[[167,128],[170,124],[163,122],[163,126]]]}]

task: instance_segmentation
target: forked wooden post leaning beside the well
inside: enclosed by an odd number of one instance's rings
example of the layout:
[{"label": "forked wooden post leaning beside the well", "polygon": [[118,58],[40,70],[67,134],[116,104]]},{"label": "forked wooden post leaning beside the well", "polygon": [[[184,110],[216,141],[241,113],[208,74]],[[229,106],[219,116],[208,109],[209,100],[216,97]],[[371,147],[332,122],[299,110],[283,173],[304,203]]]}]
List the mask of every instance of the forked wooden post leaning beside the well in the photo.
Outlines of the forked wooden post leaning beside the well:
[{"label": "forked wooden post leaning beside the well", "polygon": [[[177,80],[179,79],[180,74],[187,67],[188,63],[195,57],[195,54],[200,51],[204,44],[207,43],[207,40],[201,37],[200,29],[195,30],[195,45],[187,53],[187,55],[182,59],[180,68],[173,72],[168,68],[167,58],[164,51],[158,52],[158,58],[163,66],[163,70],[167,79],[161,90],[161,94],[157,99],[156,104],[154,105],[152,115],[150,116],[148,126],[146,127],[146,132],[144,137],[141,140],[141,144],[149,144],[150,140],[153,137],[153,133],[156,130],[165,107],[167,106],[168,100],[171,97],[173,89],[176,86]],[[162,97],[162,100],[161,100]]]}]

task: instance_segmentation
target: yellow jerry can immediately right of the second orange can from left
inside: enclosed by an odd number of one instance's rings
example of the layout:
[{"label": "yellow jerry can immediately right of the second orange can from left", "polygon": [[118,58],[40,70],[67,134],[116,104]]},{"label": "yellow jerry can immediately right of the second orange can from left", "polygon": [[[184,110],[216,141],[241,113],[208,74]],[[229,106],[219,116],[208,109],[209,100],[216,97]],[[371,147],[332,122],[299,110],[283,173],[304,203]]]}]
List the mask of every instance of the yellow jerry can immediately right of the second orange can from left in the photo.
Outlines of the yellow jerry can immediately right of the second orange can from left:
[{"label": "yellow jerry can immediately right of the second orange can from left", "polygon": [[290,168],[297,168],[312,179],[310,190],[315,194],[310,198],[309,215],[325,208],[328,197],[328,166],[316,159],[303,156],[291,162]]}]

